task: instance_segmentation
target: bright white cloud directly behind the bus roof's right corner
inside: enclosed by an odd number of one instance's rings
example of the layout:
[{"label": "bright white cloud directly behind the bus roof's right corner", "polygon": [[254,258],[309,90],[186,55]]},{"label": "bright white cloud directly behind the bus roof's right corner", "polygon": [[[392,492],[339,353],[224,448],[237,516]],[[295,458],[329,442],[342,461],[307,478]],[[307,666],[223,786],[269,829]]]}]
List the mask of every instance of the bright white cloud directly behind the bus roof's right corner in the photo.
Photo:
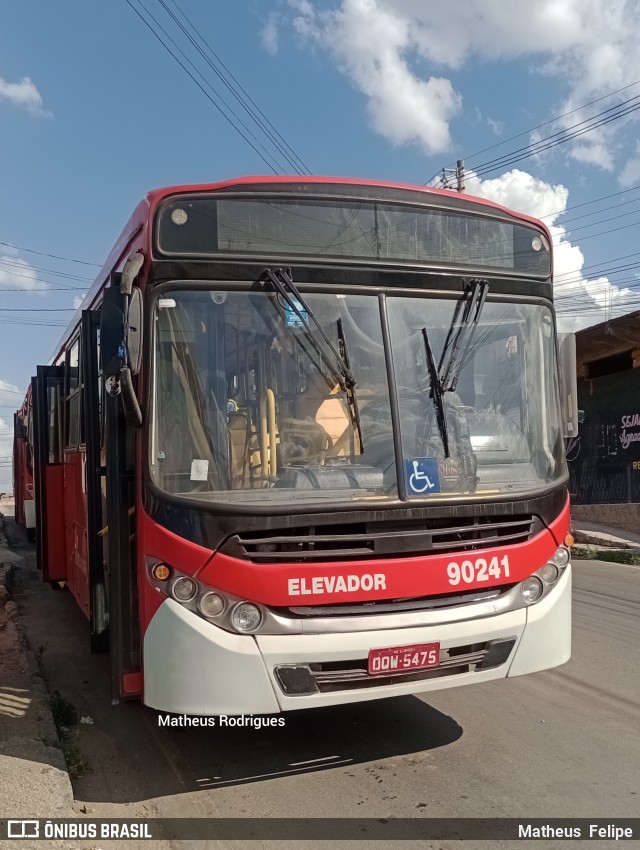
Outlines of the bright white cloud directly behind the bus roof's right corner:
[{"label": "bright white cloud directly behind the bus roof's right corner", "polygon": [[494,180],[482,180],[471,172],[465,177],[466,191],[518,212],[542,219],[554,242],[554,297],[560,331],[577,331],[629,311],[619,305],[636,295],[616,286],[605,276],[590,278],[582,272],[584,255],[571,242],[571,233],[557,220],[567,208],[568,189],[538,180],[514,169]]}]

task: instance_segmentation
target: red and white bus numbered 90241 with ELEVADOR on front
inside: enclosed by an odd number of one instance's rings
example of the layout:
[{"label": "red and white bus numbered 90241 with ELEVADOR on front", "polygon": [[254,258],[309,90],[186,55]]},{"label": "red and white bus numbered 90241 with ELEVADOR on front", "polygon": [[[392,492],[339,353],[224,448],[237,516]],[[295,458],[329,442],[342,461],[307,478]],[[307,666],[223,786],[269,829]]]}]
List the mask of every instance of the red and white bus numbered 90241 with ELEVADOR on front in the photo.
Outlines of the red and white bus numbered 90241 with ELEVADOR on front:
[{"label": "red and white bus numbered 90241 with ELEVADOR on front", "polygon": [[567,661],[552,296],[548,229],[464,194],[150,192],[32,381],[39,568],[113,701],[274,714]]}]

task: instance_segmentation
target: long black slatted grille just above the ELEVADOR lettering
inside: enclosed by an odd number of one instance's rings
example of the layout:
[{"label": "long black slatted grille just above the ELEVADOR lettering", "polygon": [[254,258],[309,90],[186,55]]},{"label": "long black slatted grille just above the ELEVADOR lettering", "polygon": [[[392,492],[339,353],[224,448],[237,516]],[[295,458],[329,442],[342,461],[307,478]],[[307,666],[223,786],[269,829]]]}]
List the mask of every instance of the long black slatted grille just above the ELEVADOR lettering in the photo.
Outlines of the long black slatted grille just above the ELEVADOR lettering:
[{"label": "long black slatted grille just above the ELEVADOR lettering", "polygon": [[524,543],[541,529],[531,515],[344,523],[241,532],[220,551],[258,564],[398,558]]}]

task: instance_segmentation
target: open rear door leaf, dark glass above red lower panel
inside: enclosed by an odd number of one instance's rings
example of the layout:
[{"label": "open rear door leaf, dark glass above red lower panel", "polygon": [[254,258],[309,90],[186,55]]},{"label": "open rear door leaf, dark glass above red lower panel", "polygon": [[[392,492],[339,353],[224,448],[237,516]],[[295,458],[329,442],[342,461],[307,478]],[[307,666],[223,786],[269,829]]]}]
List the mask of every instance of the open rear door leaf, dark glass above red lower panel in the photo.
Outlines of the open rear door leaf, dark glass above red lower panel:
[{"label": "open rear door leaf, dark glass above red lower panel", "polygon": [[43,581],[64,581],[64,366],[38,366],[32,379],[32,397],[38,569]]}]

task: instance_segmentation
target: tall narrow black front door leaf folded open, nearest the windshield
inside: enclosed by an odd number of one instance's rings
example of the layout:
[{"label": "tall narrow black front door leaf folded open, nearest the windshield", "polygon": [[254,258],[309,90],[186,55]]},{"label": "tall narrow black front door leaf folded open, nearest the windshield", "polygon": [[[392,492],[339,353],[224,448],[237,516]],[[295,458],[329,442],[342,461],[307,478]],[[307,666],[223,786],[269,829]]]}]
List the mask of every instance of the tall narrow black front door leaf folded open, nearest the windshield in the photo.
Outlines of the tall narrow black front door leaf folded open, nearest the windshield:
[{"label": "tall narrow black front door leaf folded open, nearest the windshield", "polygon": [[92,652],[106,652],[109,648],[108,588],[105,570],[108,527],[105,504],[106,470],[102,457],[103,379],[98,356],[100,334],[98,310],[83,311],[81,334],[90,641]]}]

